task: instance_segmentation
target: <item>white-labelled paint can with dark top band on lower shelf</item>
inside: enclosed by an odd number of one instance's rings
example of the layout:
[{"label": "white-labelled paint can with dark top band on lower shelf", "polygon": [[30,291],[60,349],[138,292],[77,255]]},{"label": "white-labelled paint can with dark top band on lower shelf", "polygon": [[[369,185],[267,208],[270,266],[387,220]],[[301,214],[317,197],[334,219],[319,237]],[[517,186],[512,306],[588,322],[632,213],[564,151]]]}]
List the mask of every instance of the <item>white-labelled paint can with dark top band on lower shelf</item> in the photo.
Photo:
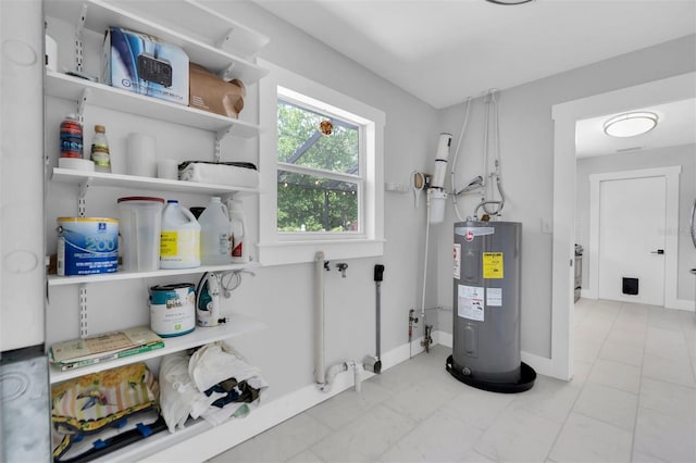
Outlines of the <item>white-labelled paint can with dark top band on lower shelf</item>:
[{"label": "white-labelled paint can with dark top band on lower shelf", "polygon": [[162,337],[181,336],[196,327],[196,287],[190,283],[150,288],[150,329]]}]

